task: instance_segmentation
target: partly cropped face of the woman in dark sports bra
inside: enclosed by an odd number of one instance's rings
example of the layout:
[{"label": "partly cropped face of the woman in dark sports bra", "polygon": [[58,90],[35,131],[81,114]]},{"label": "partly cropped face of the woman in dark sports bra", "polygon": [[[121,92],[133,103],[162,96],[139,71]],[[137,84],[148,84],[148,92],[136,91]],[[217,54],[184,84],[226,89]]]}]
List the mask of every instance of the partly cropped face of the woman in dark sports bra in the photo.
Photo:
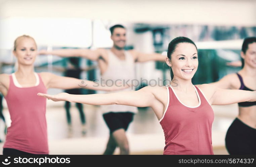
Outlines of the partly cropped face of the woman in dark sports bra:
[{"label": "partly cropped face of the woman in dark sports bra", "polygon": [[245,60],[245,64],[256,68],[256,42],[248,44],[248,49],[244,53],[241,52],[241,57]]}]

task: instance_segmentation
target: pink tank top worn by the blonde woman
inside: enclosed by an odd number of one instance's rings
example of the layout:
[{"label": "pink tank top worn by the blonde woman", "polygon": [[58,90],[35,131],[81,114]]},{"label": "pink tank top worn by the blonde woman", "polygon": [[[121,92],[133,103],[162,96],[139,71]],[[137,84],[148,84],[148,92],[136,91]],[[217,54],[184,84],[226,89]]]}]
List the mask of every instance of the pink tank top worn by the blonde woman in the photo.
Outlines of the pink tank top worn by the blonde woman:
[{"label": "pink tank top worn by the blonde woman", "polygon": [[[35,73],[36,74],[36,73]],[[10,75],[10,85],[5,96],[11,117],[3,148],[12,148],[32,154],[49,154],[45,118],[46,99],[37,93],[46,93],[44,83],[38,74],[39,84],[19,88]]]}]

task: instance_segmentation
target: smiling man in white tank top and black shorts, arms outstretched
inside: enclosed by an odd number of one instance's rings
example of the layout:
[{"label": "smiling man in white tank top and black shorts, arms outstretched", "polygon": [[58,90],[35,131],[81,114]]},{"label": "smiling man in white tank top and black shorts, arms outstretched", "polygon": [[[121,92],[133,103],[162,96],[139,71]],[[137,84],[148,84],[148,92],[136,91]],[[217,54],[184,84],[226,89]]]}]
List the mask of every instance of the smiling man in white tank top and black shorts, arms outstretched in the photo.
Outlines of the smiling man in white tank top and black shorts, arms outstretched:
[{"label": "smiling man in white tank top and black shorts, arms outstretched", "polygon": [[[113,47],[107,49],[60,49],[53,51],[41,50],[39,54],[53,54],[62,57],[79,56],[95,60],[99,64],[102,79],[107,85],[117,79],[135,79],[135,62],[165,61],[166,56],[152,53],[145,54],[136,50],[125,51],[126,29],[122,25],[114,25],[110,28]],[[109,79],[109,80],[108,80]],[[126,91],[126,90],[122,90]],[[128,88],[127,91],[131,91]],[[116,147],[120,148],[120,154],[129,154],[128,140],[125,134],[137,108],[124,105],[101,106],[103,118],[110,129],[110,137],[104,154],[113,154]]]}]

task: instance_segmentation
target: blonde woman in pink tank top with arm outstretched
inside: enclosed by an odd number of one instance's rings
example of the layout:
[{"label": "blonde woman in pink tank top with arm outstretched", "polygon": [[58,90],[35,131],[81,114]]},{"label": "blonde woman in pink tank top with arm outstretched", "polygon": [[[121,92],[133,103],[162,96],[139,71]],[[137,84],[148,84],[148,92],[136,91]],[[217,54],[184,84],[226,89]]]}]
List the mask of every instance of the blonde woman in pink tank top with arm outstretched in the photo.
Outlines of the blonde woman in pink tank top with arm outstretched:
[{"label": "blonde woman in pink tank top with arm outstretched", "polygon": [[[48,88],[79,88],[82,80],[49,72],[35,73],[37,45],[30,36],[16,38],[13,54],[17,58],[17,70],[11,75],[0,74],[0,92],[6,99],[12,121],[7,131],[3,154],[48,154],[46,100],[38,97],[37,93],[46,93]],[[87,89],[123,89],[94,87],[92,81],[85,82]]]}]

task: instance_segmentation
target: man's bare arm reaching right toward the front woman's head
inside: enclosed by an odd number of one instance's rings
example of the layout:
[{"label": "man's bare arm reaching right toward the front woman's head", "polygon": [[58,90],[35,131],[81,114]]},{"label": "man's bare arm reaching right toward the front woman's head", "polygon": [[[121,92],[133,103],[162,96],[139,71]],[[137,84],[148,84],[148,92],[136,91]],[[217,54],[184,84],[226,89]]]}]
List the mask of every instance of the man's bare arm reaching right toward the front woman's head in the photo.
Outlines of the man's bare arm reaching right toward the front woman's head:
[{"label": "man's bare arm reaching right toward the front woman's head", "polygon": [[147,53],[137,52],[135,50],[133,50],[132,53],[135,55],[135,60],[137,60],[137,62],[145,62],[145,61],[152,61],[152,60],[165,61],[166,59],[166,56],[159,53],[147,54]]}]

